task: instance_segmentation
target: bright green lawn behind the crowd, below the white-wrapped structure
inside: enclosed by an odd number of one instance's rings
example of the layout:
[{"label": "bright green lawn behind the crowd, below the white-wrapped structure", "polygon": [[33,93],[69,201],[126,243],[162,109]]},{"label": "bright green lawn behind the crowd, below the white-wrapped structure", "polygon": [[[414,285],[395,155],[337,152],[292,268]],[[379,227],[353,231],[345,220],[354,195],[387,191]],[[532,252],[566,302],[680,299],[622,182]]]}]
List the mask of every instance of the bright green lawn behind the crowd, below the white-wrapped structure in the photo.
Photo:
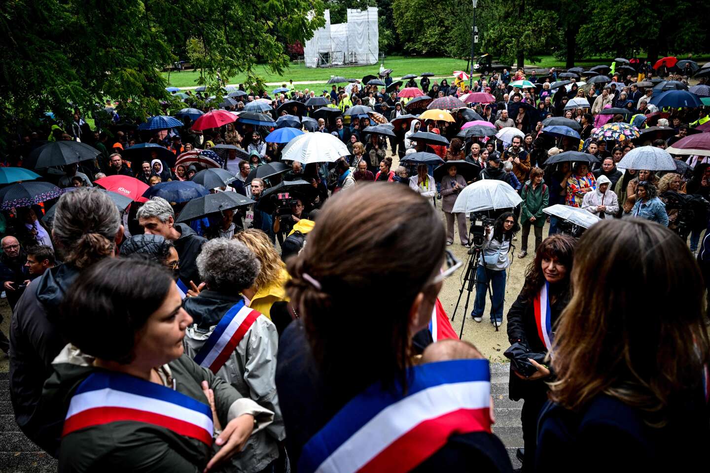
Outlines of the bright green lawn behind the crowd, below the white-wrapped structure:
[{"label": "bright green lawn behind the crowd, below the white-wrapped structure", "polygon": [[[402,77],[405,74],[422,74],[422,72],[433,72],[437,76],[451,76],[455,70],[460,70],[466,67],[466,61],[452,59],[450,57],[402,57],[389,56],[386,58],[384,65],[388,69],[393,69],[392,77]],[[273,74],[268,72],[265,67],[258,66],[256,73],[261,75],[266,82],[288,82],[288,79],[297,81],[313,81],[322,80],[323,84],[330,79],[331,76],[344,76],[349,79],[362,79],[367,74],[377,74],[380,70],[379,64],[371,66],[354,66],[354,67],[305,67],[302,63],[292,63],[283,75]],[[167,78],[168,72],[163,72]],[[197,78],[200,77],[200,72],[184,71],[170,72],[170,82],[168,85],[173,87],[191,87],[197,85]],[[231,77],[229,84],[239,84],[244,82],[244,76]],[[304,87],[310,87],[304,86]],[[322,89],[321,89],[322,90]]]}]

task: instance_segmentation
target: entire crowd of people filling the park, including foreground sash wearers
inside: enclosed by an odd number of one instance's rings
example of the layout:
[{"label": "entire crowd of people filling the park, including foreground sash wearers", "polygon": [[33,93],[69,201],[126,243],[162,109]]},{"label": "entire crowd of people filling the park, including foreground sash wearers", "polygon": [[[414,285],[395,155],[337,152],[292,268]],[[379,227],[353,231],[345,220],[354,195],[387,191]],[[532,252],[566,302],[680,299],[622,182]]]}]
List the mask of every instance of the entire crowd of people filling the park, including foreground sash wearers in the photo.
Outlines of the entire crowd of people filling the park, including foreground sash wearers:
[{"label": "entire crowd of people filling the park, including foreground sash wearers", "polygon": [[[183,116],[146,132],[115,111],[102,130],[79,111],[55,124],[50,141],[81,140],[97,158],[45,176],[76,189],[2,215],[12,320],[0,347],[17,424],[65,472],[513,471],[491,430],[488,361],[441,335],[437,299],[461,267],[456,231],[474,245],[457,197],[493,179],[522,202],[486,226],[471,317],[482,321],[490,293],[491,323],[503,325],[522,229],[517,257],[529,251],[530,263],[506,315],[506,356],[510,398],[523,400],[523,471],[702,464],[710,162],[674,155],[677,170],[660,172],[618,162],[701,131],[706,109],[656,110],[652,87],[623,74],[600,89],[559,85],[555,69],[533,75],[423,77],[419,89],[384,71],[384,86],[316,95],[284,84],[273,99],[240,87],[220,104],[243,116],[269,101],[258,125],[200,130]],[[568,108],[576,98],[587,106]],[[432,103],[444,107],[427,118]],[[630,113],[602,113],[612,106]],[[636,132],[672,131],[594,138],[601,121],[631,126],[632,115]],[[579,138],[550,133],[550,118],[577,123]],[[268,138],[283,123],[329,133],[349,155],[284,162],[286,143]],[[40,133],[18,140],[10,164],[31,161]],[[126,153],[142,143],[163,149]],[[205,194],[250,204],[182,221],[189,201],[136,196],[120,208],[102,189],[116,175],[148,189],[195,182],[215,166],[231,177]],[[671,205],[686,193],[697,197],[690,216]],[[544,212],[555,204],[600,221],[574,238]],[[405,284],[392,291],[393,281]],[[643,295],[654,292],[673,297]],[[354,330],[363,316],[374,330]]]}]

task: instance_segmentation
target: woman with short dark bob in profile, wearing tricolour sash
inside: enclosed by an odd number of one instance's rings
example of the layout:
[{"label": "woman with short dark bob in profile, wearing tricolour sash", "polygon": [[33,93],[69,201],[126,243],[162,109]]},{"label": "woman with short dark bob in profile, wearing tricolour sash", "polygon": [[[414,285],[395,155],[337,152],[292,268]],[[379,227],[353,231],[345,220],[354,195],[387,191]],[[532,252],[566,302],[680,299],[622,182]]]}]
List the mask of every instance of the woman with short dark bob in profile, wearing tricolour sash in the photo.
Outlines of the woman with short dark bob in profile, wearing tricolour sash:
[{"label": "woman with short dark bob in profile, wearing tricolour sash", "polygon": [[184,354],[192,318],[155,263],[93,265],[62,314],[70,344],[40,406],[66,413],[60,472],[212,471],[273,419]]}]

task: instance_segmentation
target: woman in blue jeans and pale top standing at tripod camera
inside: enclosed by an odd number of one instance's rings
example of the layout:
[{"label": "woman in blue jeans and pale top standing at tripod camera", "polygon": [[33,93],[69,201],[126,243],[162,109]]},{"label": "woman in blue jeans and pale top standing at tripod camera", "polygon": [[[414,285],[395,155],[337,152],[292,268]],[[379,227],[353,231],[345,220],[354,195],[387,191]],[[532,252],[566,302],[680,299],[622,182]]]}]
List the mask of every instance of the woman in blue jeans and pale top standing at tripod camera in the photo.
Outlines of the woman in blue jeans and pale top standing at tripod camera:
[{"label": "woman in blue jeans and pale top standing at tripod camera", "polygon": [[486,228],[486,242],[476,267],[476,301],[471,317],[474,321],[483,320],[486,310],[488,284],[491,285],[491,323],[500,327],[503,324],[503,299],[506,296],[506,269],[510,266],[510,241],[520,230],[512,212],[505,212],[496,218],[491,227]]}]

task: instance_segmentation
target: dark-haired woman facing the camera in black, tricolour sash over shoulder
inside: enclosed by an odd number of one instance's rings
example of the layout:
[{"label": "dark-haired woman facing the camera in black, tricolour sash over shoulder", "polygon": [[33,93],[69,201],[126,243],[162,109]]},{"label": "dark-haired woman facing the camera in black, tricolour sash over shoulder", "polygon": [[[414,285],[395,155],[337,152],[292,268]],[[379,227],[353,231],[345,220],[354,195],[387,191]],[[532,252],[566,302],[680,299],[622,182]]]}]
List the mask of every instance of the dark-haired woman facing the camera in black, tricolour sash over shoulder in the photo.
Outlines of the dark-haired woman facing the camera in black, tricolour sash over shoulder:
[{"label": "dark-haired woman facing the camera in black, tricolour sash over shoulder", "polygon": [[[525,274],[525,284],[518,299],[508,311],[508,340],[528,347],[530,353],[550,351],[552,328],[569,300],[569,274],[572,272],[574,238],[568,235],[551,235],[542,240],[535,260]],[[520,421],[523,423],[525,473],[534,471],[535,435],[537,416],[547,401],[550,370],[536,364],[537,372],[530,377],[513,370],[510,365],[510,399],[524,399]]]}]

